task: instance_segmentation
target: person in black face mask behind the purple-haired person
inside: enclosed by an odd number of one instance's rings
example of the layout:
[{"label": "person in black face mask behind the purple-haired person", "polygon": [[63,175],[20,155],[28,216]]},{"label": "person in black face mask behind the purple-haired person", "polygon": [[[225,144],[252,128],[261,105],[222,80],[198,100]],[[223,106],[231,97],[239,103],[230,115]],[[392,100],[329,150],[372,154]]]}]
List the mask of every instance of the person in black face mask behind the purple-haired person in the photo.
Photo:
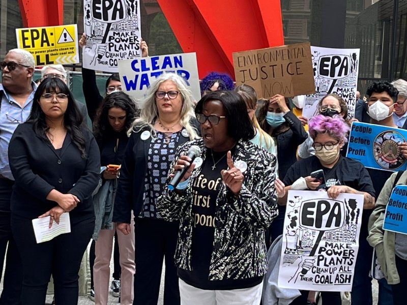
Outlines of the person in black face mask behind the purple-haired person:
[{"label": "person in black face mask behind the purple-haired person", "polygon": [[[346,120],[347,105],[346,102],[337,94],[328,94],[318,103],[318,112],[324,116],[339,116],[345,119],[345,122],[350,126],[351,124]],[[315,155],[315,149],[312,144],[314,141],[308,137],[304,143],[298,147],[298,160],[302,160]],[[347,142],[341,149],[341,155],[346,156]]]}]

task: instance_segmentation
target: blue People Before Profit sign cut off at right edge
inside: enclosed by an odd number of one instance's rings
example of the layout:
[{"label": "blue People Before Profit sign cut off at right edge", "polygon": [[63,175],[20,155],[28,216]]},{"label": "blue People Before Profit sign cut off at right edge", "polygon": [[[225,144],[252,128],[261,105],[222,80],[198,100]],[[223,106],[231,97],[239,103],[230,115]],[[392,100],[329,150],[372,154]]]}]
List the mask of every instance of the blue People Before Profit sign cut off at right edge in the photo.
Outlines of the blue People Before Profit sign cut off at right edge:
[{"label": "blue People Before Profit sign cut off at right edge", "polygon": [[396,186],[386,206],[383,229],[407,234],[407,186]]}]

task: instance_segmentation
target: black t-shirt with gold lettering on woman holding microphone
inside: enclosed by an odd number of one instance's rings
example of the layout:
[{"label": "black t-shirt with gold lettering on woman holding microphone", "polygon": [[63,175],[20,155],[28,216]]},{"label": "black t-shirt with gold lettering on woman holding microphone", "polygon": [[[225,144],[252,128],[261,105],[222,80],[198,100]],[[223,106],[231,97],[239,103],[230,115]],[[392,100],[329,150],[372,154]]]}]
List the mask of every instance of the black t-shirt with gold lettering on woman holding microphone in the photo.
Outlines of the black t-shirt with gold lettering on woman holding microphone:
[{"label": "black t-shirt with gold lettering on woman holding microphone", "polygon": [[[205,290],[232,290],[253,287],[263,280],[256,277],[244,280],[209,280],[209,266],[216,226],[216,198],[222,184],[221,170],[227,169],[226,153],[207,150],[200,174],[193,181],[192,205],[192,271],[178,268],[178,276],[187,284]],[[232,150],[233,153],[233,150]],[[212,170],[214,161],[216,167]]]}]

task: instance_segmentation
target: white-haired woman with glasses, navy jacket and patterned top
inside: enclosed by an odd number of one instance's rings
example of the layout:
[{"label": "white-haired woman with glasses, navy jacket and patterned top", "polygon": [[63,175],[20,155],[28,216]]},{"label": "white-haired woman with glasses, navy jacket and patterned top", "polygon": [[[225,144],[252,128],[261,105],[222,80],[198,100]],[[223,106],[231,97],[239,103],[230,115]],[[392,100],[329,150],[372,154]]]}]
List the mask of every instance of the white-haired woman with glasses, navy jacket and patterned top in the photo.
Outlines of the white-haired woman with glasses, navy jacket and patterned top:
[{"label": "white-haired woman with glasses, navy jacket and patterned top", "polygon": [[134,212],[133,304],[157,304],[164,257],[164,304],[180,304],[174,263],[179,224],[161,218],[156,200],[164,193],[177,147],[198,136],[197,125],[184,79],[173,73],[157,78],[129,132],[113,212],[113,221],[124,234],[130,233]]}]

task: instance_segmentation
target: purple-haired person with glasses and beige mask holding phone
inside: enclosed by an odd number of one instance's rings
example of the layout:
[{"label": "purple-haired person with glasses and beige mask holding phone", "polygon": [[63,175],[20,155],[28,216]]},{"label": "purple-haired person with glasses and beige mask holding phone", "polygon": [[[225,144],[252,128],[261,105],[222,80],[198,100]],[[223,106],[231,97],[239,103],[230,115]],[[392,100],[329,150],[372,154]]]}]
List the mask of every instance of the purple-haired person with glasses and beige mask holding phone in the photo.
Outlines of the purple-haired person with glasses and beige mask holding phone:
[{"label": "purple-haired person with glasses and beige mask holding phone", "polygon": [[[293,164],[285,175],[285,190],[326,190],[330,198],[335,199],[340,193],[362,194],[364,209],[374,207],[374,188],[370,175],[364,166],[353,159],[341,156],[340,149],[347,142],[346,135],[350,127],[338,116],[319,114],[309,121],[309,134],[313,139],[315,156]],[[311,173],[323,170],[325,183],[316,181]],[[279,204],[285,205],[287,196],[279,198]],[[361,259],[371,259],[364,257]],[[292,304],[306,305],[308,291],[295,299]],[[323,304],[340,305],[339,292],[322,292]]]}]

